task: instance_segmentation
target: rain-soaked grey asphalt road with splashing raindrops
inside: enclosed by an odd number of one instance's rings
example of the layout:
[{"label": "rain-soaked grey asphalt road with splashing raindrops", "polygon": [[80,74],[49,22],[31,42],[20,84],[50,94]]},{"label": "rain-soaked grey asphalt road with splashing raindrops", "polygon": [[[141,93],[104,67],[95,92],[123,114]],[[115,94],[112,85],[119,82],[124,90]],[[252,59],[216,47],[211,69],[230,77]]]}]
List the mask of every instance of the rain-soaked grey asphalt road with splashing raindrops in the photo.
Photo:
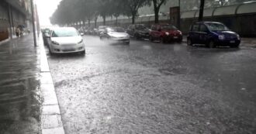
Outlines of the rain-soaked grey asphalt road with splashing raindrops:
[{"label": "rain-soaked grey asphalt road with splashing raindrops", "polygon": [[85,43],[48,56],[67,134],[256,133],[256,49]]}]

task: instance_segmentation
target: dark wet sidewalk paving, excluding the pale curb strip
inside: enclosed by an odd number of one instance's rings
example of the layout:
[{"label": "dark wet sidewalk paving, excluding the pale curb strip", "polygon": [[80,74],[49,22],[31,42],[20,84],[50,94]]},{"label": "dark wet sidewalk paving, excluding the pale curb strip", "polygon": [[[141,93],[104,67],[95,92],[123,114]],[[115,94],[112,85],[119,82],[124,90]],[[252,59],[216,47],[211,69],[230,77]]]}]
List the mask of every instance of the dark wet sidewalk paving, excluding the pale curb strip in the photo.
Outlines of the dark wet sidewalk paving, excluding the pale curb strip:
[{"label": "dark wet sidewalk paving, excluding the pale curb strip", "polygon": [[41,104],[33,34],[0,43],[0,133],[40,133]]}]

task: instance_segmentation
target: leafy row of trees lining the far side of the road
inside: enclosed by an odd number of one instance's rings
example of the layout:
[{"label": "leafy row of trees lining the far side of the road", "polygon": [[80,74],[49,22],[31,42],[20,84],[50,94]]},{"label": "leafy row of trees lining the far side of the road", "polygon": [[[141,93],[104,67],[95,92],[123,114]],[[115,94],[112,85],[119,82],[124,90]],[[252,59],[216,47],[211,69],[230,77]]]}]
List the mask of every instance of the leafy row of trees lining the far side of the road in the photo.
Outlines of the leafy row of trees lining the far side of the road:
[{"label": "leafy row of trees lining the far side of the road", "polygon": [[105,25],[108,16],[115,17],[117,21],[119,15],[126,15],[131,17],[134,23],[138,10],[144,6],[151,6],[154,9],[155,23],[158,23],[158,14],[162,5],[178,1],[181,3],[182,10],[188,10],[199,9],[202,2],[206,3],[206,7],[213,7],[251,0],[171,0],[169,2],[168,0],[62,0],[50,21],[52,24],[60,25],[88,22],[90,26],[92,20],[96,24],[100,16]]}]

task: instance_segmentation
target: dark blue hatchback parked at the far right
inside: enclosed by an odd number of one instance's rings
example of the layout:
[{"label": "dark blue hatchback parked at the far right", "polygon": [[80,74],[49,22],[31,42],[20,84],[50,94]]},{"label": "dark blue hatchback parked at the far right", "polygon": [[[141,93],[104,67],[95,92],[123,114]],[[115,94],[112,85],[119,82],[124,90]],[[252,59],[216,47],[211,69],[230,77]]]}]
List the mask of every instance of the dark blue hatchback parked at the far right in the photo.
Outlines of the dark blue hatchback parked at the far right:
[{"label": "dark blue hatchback parked at the far right", "polygon": [[206,44],[210,48],[216,46],[238,47],[240,36],[221,22],[195,22],[190,27],[187,43],[189,46]]}]

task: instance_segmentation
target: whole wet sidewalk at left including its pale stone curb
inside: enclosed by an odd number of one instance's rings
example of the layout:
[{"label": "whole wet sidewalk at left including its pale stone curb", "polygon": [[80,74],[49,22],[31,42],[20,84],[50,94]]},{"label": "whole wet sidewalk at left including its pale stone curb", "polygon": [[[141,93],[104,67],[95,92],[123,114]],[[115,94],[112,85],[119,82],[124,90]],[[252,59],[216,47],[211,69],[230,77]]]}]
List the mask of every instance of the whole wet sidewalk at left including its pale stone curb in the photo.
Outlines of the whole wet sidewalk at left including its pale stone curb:
[{"label": "whole wet sidewalk at left including its pale stone curb", "polygon": [[33,34],[0,43],[0,134],[62,134],[42,40]]}]

